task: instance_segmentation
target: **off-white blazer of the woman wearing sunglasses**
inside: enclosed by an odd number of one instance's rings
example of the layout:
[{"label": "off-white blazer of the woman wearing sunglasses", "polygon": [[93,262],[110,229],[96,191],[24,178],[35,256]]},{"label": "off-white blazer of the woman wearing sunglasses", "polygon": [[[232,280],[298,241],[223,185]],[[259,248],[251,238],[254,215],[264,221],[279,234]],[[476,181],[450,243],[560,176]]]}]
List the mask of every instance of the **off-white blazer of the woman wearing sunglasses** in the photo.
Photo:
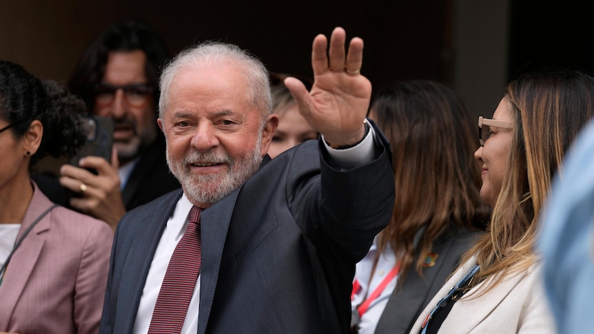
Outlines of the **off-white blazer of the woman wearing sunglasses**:
[{"label": "off-white blazer of the woman wearing sunglasses", "polygon": [[[420,333],[421,325],[441,298],[476,264],[471,258],[442,286],[417,318],[410,333]],[[541,264],[508,275],[491,291],[473,298],[485,280],[453,304],[439,333],[555,333],[555,322],[542,284]]]}]

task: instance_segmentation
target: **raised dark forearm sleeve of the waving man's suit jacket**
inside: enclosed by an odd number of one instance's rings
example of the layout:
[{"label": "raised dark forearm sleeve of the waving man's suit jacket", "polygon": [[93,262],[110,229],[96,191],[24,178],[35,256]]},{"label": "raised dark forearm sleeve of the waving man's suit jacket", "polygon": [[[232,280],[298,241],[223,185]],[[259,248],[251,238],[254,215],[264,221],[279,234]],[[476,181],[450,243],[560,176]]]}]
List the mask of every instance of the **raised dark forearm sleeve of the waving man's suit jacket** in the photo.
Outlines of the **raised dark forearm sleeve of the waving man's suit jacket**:
[{"label": "raised dark forearm sleeve of the waving man's suit jacket", "polygon": [[[334,165],[320,140],[321,229],[331,245],[358,262],[371,247],[373,237],[390,220],[394,205],[394,176],[390,145],[376,131],[376,158],[358,167],[342,170]],[[360,245],[360,247],[354,247]]]}]

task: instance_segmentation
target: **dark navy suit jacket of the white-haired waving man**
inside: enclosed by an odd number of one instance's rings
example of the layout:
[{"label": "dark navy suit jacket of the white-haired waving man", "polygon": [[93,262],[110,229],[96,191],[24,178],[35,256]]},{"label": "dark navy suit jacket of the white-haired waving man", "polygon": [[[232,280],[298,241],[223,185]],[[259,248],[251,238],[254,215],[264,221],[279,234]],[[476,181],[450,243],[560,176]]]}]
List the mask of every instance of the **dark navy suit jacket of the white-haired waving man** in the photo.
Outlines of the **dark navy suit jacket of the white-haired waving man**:
[{"label": "dark navy suit jacket of the white-haired waving man", "polygon": [[[355,264],[393,207],[391,154],[378,138],[378,158],[349,171],[332,167],[314,140],[266,157],[244,185],[201,213],[198,333],[348,333]],[[119,223],[100,333],[132,331],[181,195],[158,198]]]}]

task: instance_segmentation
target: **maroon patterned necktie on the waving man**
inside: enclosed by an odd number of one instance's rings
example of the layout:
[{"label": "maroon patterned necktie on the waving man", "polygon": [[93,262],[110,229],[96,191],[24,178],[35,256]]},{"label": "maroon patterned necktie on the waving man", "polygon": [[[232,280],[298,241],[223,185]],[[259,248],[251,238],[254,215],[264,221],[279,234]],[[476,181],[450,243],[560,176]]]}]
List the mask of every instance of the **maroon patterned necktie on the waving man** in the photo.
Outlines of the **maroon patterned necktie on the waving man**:
[{"label": "maroon patterned necktie on the waving man", "polygon": [[187,306],[192,300],[196,279],[200,273],[200,212],[190,210],[190,222],[179,240],[167,266],[161,291],[158,293],[149,334],[180,333]]}]

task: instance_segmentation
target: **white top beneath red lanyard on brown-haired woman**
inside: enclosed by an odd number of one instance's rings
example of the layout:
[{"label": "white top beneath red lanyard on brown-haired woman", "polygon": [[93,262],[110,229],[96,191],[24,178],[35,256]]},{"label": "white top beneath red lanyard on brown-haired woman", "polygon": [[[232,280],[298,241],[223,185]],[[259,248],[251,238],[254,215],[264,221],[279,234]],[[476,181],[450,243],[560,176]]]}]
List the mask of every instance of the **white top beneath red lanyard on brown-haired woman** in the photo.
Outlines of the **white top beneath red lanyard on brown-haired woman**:
[{"label": "white top beneath red lanyard on brown-haired woman", "polygon": [[[376,238],[373,239],[373,244],[371,245],[369,252],[367,252],[367,255],[365,255],[365,258],[357,263],[355,280],[359,282],[360,289],[356,291],[356,294],[351,300],[351,307],[354,310],[356,310],[357,306],[359,306],[362,302],[365,302],[367,297],[378,288],[386,275],[388,275],[392,268],[396,266],[396,255],[394,255],[394,252],[388,244],[388,247],[386,247],[385,251],[380,255],[378,264],[376,266],[376,271],[373,274],[373,278],[371,278],[373,260],[376,256],[376,253],[378,253],[378,246],[376,243],[377,239],[378,237],[376,236]],[[370,278],[371,282],[369,282]],[[380,321],[380,317],[386,308],[386,304],[390,299],[390,295],[396,287],[397,280],[398,275],[392,278],[382,293],[378,295],[378,298],[369,304],[369,309],[367,309],[367,311],[363,313],[362,317],[360,317],[358,331],[359,334],[373,334],[376,331],[378,321]]]}]

